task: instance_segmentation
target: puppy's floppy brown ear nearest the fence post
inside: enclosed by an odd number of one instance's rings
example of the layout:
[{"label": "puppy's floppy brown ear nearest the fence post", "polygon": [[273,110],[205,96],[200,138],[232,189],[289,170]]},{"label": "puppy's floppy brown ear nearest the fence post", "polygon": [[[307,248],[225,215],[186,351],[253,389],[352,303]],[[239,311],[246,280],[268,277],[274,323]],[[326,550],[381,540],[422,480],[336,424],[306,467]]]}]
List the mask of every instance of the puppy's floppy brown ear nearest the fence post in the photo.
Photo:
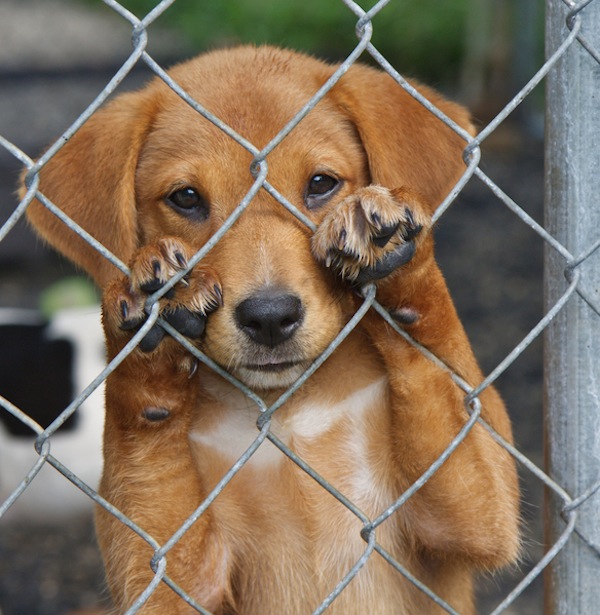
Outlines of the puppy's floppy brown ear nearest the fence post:
[{"label": "puppy's floppy brown ear nearest the fence post", "polygon": [[[412,85],[474,134],[466,109],[431,88]],[[408,186],[433,211],[465,170],[465,140],[380,70],[354,65],[331,93],[358,130],[371,181],[392,189]]]}]

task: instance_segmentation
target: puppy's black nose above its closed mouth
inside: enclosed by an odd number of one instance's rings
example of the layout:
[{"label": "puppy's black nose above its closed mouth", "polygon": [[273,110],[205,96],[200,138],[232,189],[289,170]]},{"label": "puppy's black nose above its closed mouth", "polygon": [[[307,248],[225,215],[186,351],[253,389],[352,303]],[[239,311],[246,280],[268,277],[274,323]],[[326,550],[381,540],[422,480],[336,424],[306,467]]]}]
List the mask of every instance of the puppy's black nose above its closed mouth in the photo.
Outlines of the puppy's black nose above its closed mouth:
[{"label": "puppy's black nose above its closed mouth", "polygon": [[274,348],[290,339],[304,317],[302,301],[281,290],[263,290],[235,308],[238,327],[258,344]]}]

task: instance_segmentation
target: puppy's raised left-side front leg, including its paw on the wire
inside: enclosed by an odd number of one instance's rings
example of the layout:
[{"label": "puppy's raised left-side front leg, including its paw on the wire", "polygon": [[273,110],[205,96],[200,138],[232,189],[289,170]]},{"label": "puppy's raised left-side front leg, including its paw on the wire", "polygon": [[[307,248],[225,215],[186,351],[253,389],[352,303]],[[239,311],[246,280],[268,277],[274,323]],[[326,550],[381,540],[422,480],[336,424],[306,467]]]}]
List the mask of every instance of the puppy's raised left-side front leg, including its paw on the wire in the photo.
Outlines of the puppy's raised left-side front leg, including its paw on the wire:
[{"label": "puppy's raised left-side front leg, including its paw on the wire", "polygon": [[[146,246],[134,258],[131,279],[123,277],[107,288],[103,321],[109,359],[146,319],[148,294],[185,268],[191,254],[175,239]],[[160,310],[193,339],[201,335],[207,315],[220,303],[216,275],[198,265],[160,300]],[[190,420],[198,411],[195,368],[195,359],[155,325],[106,383],[101,494],[160,545],[205,495],[188,442]],[[153,550],[101,508],[97,531],[109,585],[123,612],[153,578]],[[166,561],[166,574],[175,583],[205,608],[221,612],[228,593],[227,557],[210,511],[166,554]],[[190,612],[190,607],[161,583],[140,612],[179,614]]]}]

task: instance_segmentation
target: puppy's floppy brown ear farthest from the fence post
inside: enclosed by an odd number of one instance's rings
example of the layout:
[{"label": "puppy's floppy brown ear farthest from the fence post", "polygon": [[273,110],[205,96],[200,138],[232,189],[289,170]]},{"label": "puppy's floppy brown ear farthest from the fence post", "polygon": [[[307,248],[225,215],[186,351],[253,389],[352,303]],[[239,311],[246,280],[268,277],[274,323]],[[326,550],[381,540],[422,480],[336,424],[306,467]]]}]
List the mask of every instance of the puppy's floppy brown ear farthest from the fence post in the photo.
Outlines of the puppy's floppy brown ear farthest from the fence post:
[{"label": "puppy's floppy brown ear farthest from the fence post", "polygon": [[[97,111],[40,172],[39,191],[127,263],[137,247],[135,170],[153,117],[146,92]],[[21,197],[25,188],[21,187]],[[39,201],[27,216],[54,248],[103,287],[118,270]]]}]

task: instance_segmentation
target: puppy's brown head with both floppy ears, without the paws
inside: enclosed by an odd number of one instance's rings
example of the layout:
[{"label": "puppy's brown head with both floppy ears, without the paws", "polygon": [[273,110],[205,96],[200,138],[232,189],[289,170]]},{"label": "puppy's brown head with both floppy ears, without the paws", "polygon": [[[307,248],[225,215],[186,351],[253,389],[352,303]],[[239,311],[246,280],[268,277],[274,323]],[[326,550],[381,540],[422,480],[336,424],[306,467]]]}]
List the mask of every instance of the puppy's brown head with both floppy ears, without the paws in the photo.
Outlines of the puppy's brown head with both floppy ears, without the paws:
[{"label": "puppy's brown head with both floppy ears, without the paws", "polygon": [[[175,81],[257,148],[335,67],[269,47],[217,51]],[[454,121],[467,113],[418,86]],[[419,192],[433,210],[464,170],[464,141],[389,76],[353,66],[267,157],[268,182],[316,224],[358,188]],[[252,186],[251,154],[161,81],[96,113],[41,172],[40,190],[124,262],[161,236],[200,248]],[[34,201],[29,218],[102,287],[117,270]],[[209,252],[225,305],[203,342],[254,386],[293,381],[339,331],[344,297],[311,256],[310,230],[268,192]]]}]

